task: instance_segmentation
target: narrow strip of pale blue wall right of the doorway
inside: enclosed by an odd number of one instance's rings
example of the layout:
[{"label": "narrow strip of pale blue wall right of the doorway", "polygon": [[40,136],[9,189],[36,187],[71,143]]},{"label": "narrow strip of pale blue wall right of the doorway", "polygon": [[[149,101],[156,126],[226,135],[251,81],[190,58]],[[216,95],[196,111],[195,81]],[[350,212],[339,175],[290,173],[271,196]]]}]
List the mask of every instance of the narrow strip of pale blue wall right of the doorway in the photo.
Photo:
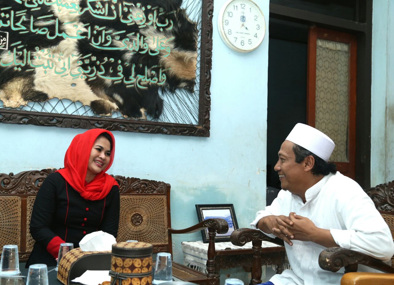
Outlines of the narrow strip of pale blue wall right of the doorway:
[{"label": "narrow strip of pale blue wall right of the doorway", "polygon": [[394,179],[394,4],[374,1],[371,87],[371,186]]}]

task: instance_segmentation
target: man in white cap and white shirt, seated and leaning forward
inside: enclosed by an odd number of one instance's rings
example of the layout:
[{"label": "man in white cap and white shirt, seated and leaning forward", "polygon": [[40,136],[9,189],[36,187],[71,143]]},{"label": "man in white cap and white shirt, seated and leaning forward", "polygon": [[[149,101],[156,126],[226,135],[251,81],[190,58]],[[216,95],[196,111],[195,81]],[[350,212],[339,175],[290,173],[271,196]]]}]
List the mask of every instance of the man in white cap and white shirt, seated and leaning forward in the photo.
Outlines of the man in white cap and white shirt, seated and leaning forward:
[{"label": "man in white cap and white shirt, seated and leaning forward", "polygon": [[[328,136],[304,124],[297,124],[281,145],[274,169],[282,190],[251,225],[286,242],[292,270],[266,284],[339,285],[344,269],[333,273],[318,264],[320,252],[332,246],[385,262],[394,254],[390,230],[372,200],[328,162],[334,147]],[[359,265],[359,271],[375,270]]]}]

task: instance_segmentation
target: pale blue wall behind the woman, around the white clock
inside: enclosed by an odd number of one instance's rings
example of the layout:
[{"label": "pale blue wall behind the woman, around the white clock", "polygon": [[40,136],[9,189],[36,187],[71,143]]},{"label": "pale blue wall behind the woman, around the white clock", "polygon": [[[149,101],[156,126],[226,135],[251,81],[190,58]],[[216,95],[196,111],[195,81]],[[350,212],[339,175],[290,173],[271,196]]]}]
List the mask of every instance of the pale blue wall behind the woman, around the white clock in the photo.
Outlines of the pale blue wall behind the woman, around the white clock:
[{"label": "pale blue wall behind the woman, around the white clock", "polygon": [[[232,203],[247,227],[266,203],[266,121],[269,1],[256,1],[266,16],[262,45],[248,54],[227,48],[217,31],[225,0],[215,0],[210,138],[113,132],[115,161],[108,173],[171,184],[173,228],[198,222],[195,204]],[[72,138],[84,130],[0,124],[0,173],[63,166]],[[175,261],[182,241],[174,235]]]}]

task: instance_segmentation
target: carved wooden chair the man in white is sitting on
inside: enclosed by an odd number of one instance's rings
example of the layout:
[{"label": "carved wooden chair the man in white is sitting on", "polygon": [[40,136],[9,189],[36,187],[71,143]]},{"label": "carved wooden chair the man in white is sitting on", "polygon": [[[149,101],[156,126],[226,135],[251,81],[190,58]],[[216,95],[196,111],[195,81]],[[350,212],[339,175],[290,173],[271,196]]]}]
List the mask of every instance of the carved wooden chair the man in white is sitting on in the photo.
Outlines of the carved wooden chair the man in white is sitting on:
[{"label": "carved wooden chair the man in white is sitting on", "polygon": [[[394,239],[394,181],[379,184],[365,190],[365,192],[374,201],[375,207],[388,224]],[[232,244],[237,246],[252,242],[254,259],[251,284],[261,283],[261,241],[272,241],[273,239],[256,229],[238,229],[232,232],[230,240]],[[358,264],[388,272],[389,274],[356,272]],[[319,265],[325,270],[337,272],[340,268],[345,267],[346,274],[342,277],[341,285],[394,284],[394,257],[391,259],[391,264],[392,266],[357,251],[338,247],[323,250],[319,257]]]}]

